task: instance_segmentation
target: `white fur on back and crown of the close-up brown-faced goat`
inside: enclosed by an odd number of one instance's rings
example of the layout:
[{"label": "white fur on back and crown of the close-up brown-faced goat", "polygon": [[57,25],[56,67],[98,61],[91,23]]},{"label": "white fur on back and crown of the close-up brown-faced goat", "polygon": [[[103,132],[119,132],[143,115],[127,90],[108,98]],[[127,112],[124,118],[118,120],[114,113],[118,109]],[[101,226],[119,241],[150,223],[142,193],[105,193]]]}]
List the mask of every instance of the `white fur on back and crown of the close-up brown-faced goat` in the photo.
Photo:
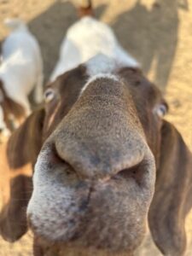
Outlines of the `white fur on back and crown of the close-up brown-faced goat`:
[{"label": "white fur on back and crown of the close-up brown-faced goat", "polygon": [[[61,44],[60,59],[50,81],[99,54],[112,58],[119,67],[138,67],[137,61],[119,45],[108,25],[92,17],[84,17],[68,29]],[[112,71],[112,67],[109,68]],[[90,76],[106,71],[110,72],[102,62],[99,65],[91,63],[88,68]]]}]

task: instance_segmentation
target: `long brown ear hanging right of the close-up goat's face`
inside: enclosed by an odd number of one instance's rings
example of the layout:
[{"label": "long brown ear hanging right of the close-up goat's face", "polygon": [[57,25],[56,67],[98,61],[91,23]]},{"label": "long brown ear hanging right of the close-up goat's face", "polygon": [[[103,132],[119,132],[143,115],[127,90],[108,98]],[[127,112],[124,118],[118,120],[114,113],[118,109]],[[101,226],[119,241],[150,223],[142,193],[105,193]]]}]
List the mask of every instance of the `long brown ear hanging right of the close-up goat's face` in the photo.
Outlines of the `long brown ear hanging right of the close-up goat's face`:
[{"label": "long brown ear hanging right of the close-up goat's face", "polygon": [[160,166],[148,222],[154,242],[164,255],[183,255],[185,217],[192,207],[192,154],[173,125],[164,121]]}]

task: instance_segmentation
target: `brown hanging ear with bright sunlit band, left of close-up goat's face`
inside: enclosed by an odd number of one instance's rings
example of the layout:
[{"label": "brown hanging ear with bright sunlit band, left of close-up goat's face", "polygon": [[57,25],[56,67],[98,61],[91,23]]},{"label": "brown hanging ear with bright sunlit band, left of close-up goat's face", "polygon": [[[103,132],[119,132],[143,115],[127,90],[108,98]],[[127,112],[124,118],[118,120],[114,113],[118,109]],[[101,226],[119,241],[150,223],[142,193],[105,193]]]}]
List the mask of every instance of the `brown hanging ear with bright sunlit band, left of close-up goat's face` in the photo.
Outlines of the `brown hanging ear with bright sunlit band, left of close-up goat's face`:
[{"label": "brown hanging ear with bright sunlit band, left of close-up goat's face", "polygon": [[32,167],[42,146],[43,122],[44,110],[32,113],[9,142],[0,145],[0,234],[8,241],[19,239],[27,230],[26,206],[32,195]]}]

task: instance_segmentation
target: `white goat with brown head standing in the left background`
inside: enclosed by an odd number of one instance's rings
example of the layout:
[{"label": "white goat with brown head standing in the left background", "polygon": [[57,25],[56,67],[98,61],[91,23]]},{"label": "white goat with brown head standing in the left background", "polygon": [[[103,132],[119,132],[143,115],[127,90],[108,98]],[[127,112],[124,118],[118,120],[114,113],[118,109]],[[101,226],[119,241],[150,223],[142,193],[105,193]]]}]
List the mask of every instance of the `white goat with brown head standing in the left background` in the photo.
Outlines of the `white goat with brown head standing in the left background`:
[{"label": "white goat with brown head standing in the left background", "polygon": [[27,96],[43,96],[43,63],[38,41],[21,20],[5,20],[13,30],[3,42],[0,66],[0,130],[11,130],[11,122],[20,124],[31,112]]}]

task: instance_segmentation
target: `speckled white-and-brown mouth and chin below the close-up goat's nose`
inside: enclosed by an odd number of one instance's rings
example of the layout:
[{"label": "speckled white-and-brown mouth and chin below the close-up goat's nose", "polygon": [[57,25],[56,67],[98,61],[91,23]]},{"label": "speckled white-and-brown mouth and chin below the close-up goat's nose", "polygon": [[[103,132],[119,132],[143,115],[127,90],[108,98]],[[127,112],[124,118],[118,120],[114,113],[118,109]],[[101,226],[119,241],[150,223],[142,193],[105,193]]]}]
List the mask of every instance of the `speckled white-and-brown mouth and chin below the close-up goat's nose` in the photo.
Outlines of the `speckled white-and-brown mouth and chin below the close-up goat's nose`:
[{"label": "speckled white-and-brown mouth and chin below the close-up goat's nose", "polygon": [[27,209],[36,236],[61,245],[72,242],[114,251],[131,250],[141,243],[154,195],[153,160],[143,158],[98,180],[79,179],[67,165],[66,172],[63,166],[53,170],[46,158],[39,161]]}]

